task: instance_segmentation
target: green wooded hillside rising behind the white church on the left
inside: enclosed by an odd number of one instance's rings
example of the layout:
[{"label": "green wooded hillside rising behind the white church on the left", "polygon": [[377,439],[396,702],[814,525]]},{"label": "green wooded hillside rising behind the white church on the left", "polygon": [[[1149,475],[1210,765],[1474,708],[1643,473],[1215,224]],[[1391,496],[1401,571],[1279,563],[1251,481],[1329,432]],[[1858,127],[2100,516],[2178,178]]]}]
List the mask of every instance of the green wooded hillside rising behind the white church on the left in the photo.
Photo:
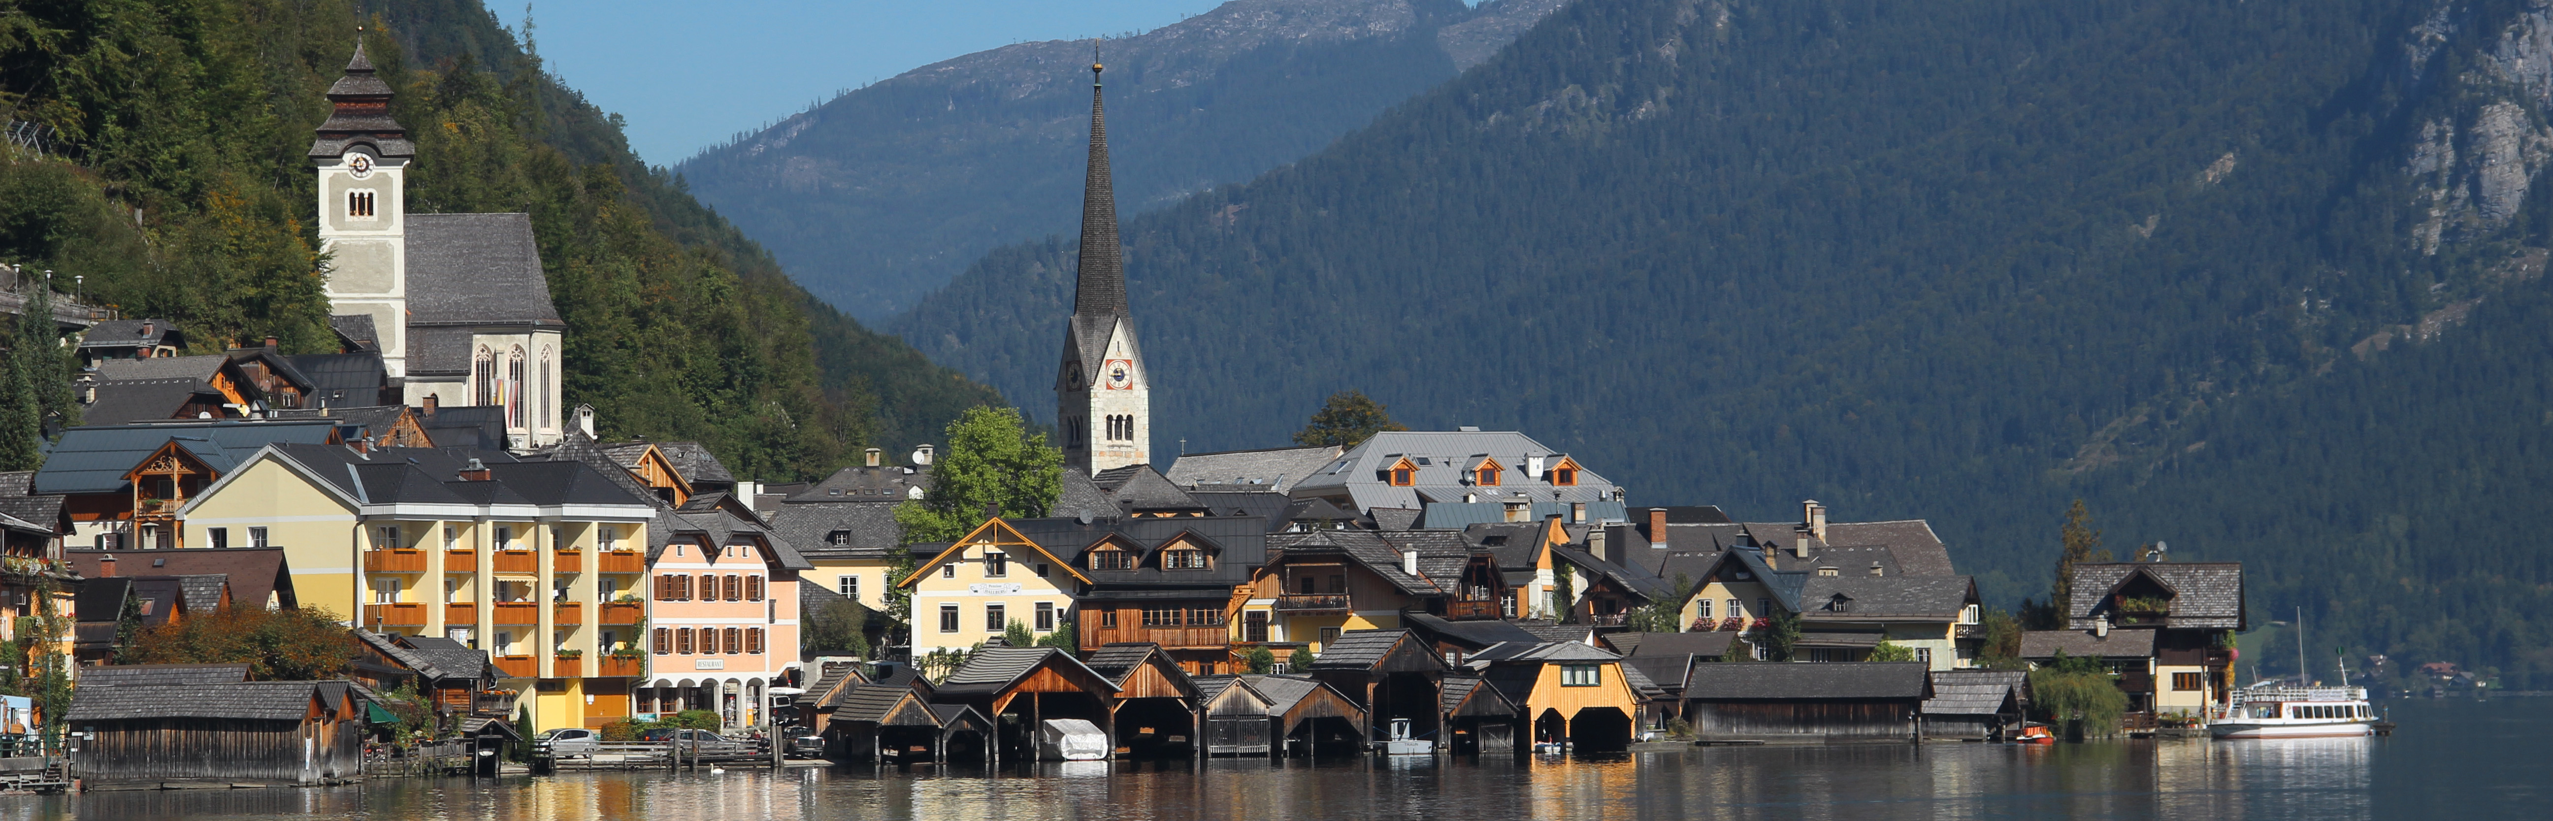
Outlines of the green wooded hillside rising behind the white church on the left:
[{"label": "green wooded hillside rising behind the white church on the left", "polygon": [[[605,436],[697,439],[814,479],[998,395],[812,301],[631,156],[477,0],[87,0],[0,15],[0,255],[171,319],[202,352],[332,349],[309,171],[357,23],[419,143],[414,212],[526,212],[569,403]],[[69,283],[64,283],[69,286]]]}]

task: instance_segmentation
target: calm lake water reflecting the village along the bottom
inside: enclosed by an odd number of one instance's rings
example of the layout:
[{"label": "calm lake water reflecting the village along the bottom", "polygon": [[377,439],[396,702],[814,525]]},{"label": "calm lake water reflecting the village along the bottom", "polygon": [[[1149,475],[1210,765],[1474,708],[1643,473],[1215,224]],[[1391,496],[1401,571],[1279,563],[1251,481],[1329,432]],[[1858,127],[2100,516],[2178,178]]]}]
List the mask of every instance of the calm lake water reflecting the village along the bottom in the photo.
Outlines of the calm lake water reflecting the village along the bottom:
[{"label": "calm lake water reflecting the village along the bottom", "polygon": [[2390,739],[1708,747],[1585,760],[730,770],[0,798],[36,818],[2545,818],[2553,699],[2390,701]]}]

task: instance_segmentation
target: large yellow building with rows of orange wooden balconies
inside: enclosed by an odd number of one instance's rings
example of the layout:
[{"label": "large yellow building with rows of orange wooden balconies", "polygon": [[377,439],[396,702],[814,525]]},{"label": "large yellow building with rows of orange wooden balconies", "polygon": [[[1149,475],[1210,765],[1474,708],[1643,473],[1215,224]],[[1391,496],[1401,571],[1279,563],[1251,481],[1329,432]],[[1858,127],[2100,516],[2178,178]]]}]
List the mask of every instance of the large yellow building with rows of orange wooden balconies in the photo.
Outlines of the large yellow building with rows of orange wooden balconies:
[{"label": "large yellow building with rows of orange wooden balconies", "polygon": [[189,538],[255,533],[301,607],[488,650],[536,727],[628,714],[654,505],[580,461],[276,444],[181,510]]}]

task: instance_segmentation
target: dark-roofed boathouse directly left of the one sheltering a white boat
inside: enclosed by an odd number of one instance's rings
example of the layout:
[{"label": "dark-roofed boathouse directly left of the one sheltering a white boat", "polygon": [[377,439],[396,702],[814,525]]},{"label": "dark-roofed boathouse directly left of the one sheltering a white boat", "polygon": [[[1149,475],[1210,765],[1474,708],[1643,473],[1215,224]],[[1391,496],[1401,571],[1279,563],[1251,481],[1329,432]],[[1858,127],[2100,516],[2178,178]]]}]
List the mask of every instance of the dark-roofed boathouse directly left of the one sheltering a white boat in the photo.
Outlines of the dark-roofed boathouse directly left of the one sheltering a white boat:
[{"label": "dark-roofed boathouse directly left of the one sheltering a white boat", "polygon": [[965,704],[932,704],[911,668],[845,686],[825,722],[825,750],[868,762],[993,765],[993,722]]}]

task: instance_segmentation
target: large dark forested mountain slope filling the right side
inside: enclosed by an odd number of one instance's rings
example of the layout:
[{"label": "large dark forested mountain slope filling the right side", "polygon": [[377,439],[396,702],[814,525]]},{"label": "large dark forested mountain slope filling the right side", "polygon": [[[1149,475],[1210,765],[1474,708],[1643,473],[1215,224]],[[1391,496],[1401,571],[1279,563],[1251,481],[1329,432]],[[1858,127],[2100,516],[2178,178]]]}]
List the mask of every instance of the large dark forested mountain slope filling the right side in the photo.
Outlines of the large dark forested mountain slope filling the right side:
[{"label": "large dark forested mountain slope filling the right side", "polygon": [[[2004,604],[2083,497],[2254,625],[2553,686],[2545,66],[2543,0],[1578,0],[1123,224],[1154,444],[1358,388],[1634,505],[1930,518]],[[886,329],[1044,416],[1070,260]]]}]

